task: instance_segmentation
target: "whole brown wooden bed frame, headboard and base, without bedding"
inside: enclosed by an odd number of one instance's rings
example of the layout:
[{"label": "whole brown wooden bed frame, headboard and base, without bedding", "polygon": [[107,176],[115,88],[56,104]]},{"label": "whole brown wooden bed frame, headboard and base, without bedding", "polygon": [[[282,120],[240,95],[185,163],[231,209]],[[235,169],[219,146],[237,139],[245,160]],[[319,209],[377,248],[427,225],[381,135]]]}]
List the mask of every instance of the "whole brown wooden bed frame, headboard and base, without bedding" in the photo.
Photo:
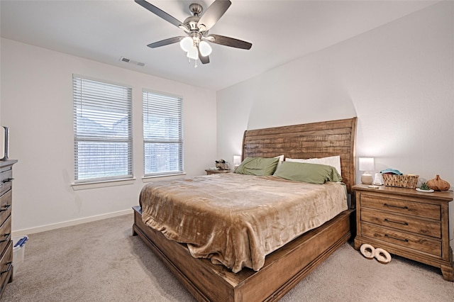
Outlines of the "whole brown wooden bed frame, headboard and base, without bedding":
[{"label": "whole brown wooden bed frame, headboard and base, without bedding", "polygon": [[[355,137],[356,118],[246,130],[243,158],[340,155],[343,182],[351,194],[356,170]],[[198,301],[277,301],[347,242],[355,228],[351,226],[354,210],[348,209],[267,255],[260,271],[244,268],[235,274],[223,265],[211,264],[209,259],[192,257],[186,245],[167,240],[145,225],[140,206],[133,209],[133,235],[162,259]]]}]

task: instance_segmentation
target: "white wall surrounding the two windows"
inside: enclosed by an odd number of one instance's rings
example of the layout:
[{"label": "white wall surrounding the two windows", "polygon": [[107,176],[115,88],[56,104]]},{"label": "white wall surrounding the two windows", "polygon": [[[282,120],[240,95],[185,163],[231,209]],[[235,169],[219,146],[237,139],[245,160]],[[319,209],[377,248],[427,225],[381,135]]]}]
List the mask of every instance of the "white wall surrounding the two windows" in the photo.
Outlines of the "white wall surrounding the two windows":
[{"label": "white wall surrounding the two windows", "polygon": [[[72,74],[133,87],[133,184],[72,189]],[[183,97],[184,169],[187,176],[204,174],[216,158],[215,91],[1,39],[1,123],[10,127],[10,158],[18,160],[13,231],[123,213],[138,204],[143,88]]]}]

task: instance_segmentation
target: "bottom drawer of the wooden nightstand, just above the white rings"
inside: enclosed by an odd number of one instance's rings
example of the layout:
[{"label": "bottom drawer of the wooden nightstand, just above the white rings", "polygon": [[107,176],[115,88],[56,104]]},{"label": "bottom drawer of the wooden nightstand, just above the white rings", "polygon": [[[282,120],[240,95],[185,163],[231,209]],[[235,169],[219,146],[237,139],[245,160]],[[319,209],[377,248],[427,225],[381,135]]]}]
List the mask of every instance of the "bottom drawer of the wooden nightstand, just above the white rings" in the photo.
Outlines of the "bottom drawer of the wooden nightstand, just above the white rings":
[{"label": "bottom drawer of the wooden nightstand, just above the white rings", "polygon": [[441,257],[441,242],[437,240],[399,232],[398,230],[380,228],[369,223],[361,224],[361,235]]}]

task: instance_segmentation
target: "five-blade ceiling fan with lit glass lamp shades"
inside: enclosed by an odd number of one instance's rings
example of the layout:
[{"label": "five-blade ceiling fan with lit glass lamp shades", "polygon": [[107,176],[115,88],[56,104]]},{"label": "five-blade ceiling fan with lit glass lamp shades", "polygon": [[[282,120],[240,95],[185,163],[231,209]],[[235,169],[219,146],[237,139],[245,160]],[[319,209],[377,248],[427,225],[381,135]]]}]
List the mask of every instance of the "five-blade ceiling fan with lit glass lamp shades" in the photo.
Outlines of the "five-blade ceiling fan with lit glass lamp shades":
[{"label": "five-blade ceiling fan with lit glass lamp shades", "polygon": [[[187,34],[186,37],[178,36],[160,40],[155,43],[148,44],[148,47],[156,48],[179,42],[182,49],[187,52],[189,60],[193,59],[197,61],[197,59],[199,59],[202,64],[210,62],[209,54],[211,53],[211,46],[207,42],[245,50],[249,50],[250,47],[252,47],[251,43],[243,40],[226,37],[224,35],[209,34],[210,28],[216,24],[216,22],[231,6],[232,3],[229,0],[215,0],[203,14],[202,12],[204,9],[200,4],[190,4],[189,10],[192,12],[192,16],[189,16],[183,22],[178,21],[176,18],[170,16],[165,11],[158,9],[156,6],[145,0],[134,1],[140,6],[143,6],[145,9],[148,9],[148,11],[154,13],[156,16],[159,16],[165,21],[181,28],[184,30],[184,33]],[[197,65],[195,65],[195,67],[197,67]]]}]

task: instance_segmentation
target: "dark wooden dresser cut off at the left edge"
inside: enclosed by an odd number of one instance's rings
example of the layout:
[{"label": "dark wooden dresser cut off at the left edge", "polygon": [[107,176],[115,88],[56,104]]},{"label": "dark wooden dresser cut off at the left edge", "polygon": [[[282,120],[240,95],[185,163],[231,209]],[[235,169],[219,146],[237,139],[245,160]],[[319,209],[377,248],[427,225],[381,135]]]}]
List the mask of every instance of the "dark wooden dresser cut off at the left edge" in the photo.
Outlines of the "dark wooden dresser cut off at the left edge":
[{"label": "dark wooden dresser cut off at the left edge", "polygon": [[0,298],[6,284],[13,281],[13,241],[11,209],[13,201],[13,164],[17,160],[0,160]]}]

